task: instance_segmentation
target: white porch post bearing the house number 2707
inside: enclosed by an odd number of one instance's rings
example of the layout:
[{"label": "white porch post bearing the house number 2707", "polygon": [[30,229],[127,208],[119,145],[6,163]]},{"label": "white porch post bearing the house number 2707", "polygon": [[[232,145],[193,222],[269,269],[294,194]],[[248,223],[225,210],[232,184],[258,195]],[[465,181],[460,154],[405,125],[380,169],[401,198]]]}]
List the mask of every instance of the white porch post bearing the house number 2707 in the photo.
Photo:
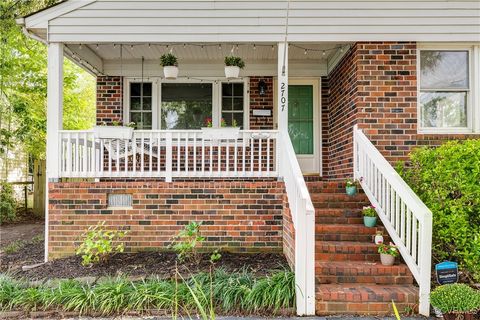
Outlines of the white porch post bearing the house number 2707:
[{"label": "white porch post bearing the house number 2707", "polygon": [[279,42],[277,49],[278,130],[288,132],[288,44]]}]

